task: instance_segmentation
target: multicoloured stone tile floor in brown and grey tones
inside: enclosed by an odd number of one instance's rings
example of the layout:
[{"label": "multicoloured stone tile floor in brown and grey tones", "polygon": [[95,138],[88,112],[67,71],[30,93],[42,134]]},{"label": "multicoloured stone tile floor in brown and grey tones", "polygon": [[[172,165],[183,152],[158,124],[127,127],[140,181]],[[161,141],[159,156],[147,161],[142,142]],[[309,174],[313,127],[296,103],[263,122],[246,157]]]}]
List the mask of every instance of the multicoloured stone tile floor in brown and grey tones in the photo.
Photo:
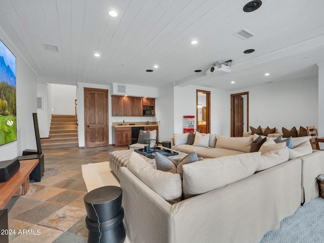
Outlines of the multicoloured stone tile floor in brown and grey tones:
[{"label": "multicoloured stone tile floor in brown and grey tones", "polygon": [[15,230],[9,242],[87,242],[83,201],[87,188],[81,166],[108,161],[108,152],[113,149],[43,149],[45,173],[41,182],[31,180],[29,191],[13,197],[6,206],[9,229]]}]

